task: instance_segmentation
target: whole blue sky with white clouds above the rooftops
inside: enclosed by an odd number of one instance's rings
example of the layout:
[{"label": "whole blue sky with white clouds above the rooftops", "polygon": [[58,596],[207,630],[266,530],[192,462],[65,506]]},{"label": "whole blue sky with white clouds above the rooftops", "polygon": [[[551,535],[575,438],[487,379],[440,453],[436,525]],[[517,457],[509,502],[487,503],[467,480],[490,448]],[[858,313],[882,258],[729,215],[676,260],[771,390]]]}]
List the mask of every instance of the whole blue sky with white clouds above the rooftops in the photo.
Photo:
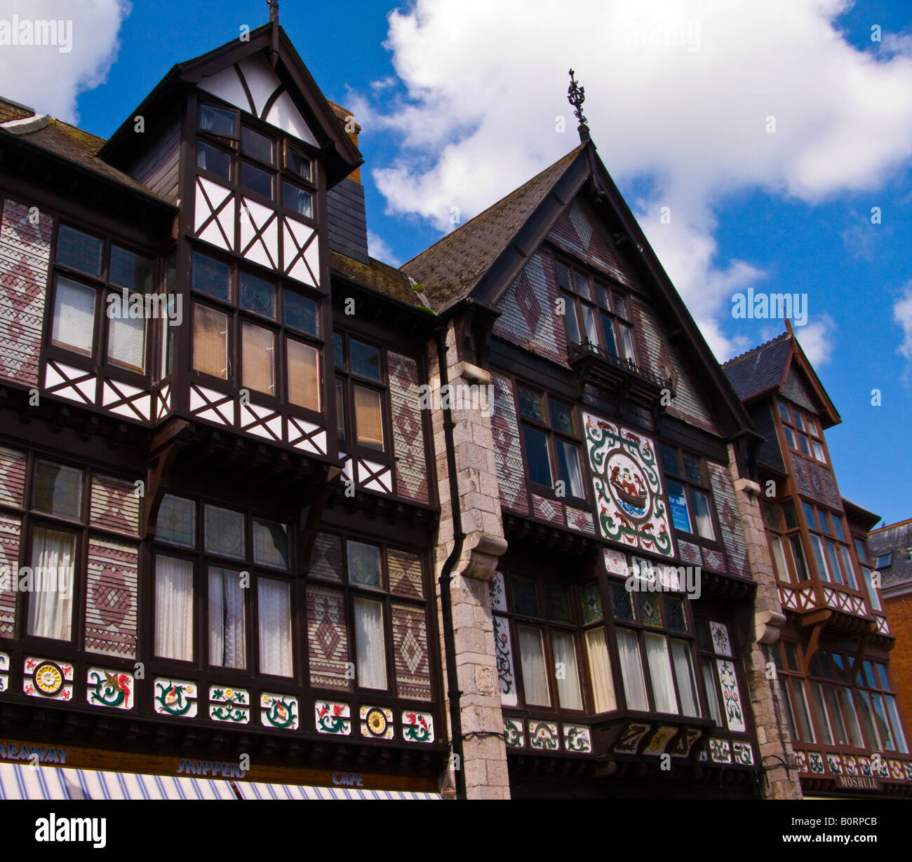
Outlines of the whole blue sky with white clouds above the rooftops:
[{"label": "whole blue sky with white clouds above the rooftops", "polygon": [[[281,21],[363,126],[371,251],[391,262],[438,239],[452,206],[465,221],[575,145],[575,66],[599,153],[717,356],[784,329],[734,320],[734,292],[806,293],[798,337],[843,417],[827,434],[840,490],[887,523],[912,517],[912,8],[734,6],[421,0],[389,17],[376,0],[285,0]],[[268,17],[262,0],[137,0],[118,30],[117,0],[0,0],[2,16],[40,7],[75,16],[74,50],[47,80],[0,59],[5,95],[75,108],[101,136],[171,65]]]}]

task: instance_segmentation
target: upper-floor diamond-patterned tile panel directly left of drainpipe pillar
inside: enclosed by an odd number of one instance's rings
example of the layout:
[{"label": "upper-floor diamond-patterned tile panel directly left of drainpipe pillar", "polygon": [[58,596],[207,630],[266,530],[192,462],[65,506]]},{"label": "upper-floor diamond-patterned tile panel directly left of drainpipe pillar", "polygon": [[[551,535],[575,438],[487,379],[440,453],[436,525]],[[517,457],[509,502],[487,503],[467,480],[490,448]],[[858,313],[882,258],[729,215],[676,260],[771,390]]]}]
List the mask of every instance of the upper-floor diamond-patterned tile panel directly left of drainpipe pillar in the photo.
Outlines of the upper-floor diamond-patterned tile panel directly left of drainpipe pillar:
[{"label": "upper-floor diamond-patterned tile panel directly left of drainpipe pillar", "polygon": [[409,356],[387,351],[387,371],[396,453],[396,493],[427,503],[430,474],[424,452],[418,363]]}]

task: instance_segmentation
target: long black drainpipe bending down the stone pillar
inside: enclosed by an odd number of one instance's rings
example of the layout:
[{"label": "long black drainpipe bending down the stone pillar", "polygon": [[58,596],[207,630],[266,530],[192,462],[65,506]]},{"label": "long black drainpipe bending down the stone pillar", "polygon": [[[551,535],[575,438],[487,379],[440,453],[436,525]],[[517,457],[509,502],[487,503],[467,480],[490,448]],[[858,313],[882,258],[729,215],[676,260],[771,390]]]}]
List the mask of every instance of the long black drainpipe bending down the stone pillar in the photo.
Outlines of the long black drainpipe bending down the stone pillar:
[{"label": "long black drainpipe bending down the stone pillar", "polygon": [[[441,326],[437,330],[435,337],[437,340],[437,363],[440,370],[440,392],[444,391],[444,386],[450,385],[447,377],[447,348],[446,348],[446,326]],[[459,690],[459,675],[456,671],[456,639],[453,634],[453,611],[452,611],[452,570],[453,566],[462,555],[462,543],[465,541],[465,533],[462,532],[462,513],[459,506],[459,484],[456,478],[456,447],[453,445],[453,428],[456,423],[453,422],[450,399],[447,399],[447,406],[443,410],[443,439],[447,449],[447,472],[450,479],[450,508],[453,519],[453,549],[450,556],[443,563],[443,569],[440,570],[440,611],[443,614],[443,652],[447,665],[447,698],[450,701],[450,723],[452,726],[453,754],[456,755],[456,764],[458,769],[456,773],[456,798],[465,799],[465,764],[462,756],[462,718],[460,713],[460,699],[462,696]]]}]

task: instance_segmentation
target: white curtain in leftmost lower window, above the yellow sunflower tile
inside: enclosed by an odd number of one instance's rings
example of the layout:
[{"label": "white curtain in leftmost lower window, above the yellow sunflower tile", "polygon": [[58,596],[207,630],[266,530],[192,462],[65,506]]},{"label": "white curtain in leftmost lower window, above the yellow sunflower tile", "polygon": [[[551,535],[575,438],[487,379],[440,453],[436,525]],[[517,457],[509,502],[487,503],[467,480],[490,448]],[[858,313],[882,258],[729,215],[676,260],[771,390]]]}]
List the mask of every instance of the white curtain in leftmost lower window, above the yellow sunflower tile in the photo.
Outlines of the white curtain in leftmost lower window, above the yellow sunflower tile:
[{"label": "white curtain in leftmost lower window, above the yellow sunflower tile", "polygon": [[[76,537],[56,529],[35,528],[32,533],[33,585],[28,601],[28,633],[39,638],[68,641],[73,628]],[[41,570],[40,575],[37,570]],[[57,578],[57,588],[52,580]],[[39,581],[40,579],[40,581]]]}]

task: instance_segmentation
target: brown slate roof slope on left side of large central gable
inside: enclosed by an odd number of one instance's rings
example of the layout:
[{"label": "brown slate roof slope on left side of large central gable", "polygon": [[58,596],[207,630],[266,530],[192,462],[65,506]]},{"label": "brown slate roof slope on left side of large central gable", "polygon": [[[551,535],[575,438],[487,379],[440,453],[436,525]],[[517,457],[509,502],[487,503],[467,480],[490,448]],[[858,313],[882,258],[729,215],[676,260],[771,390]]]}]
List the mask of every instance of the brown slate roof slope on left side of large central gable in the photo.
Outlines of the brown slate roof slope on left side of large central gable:
[{"label": "brown slate roof slope on left side of large central gable", "polygon": [[446,311],[472,292],[583,146],[402,265],[402,272],[424,288],[435,312]]}]

